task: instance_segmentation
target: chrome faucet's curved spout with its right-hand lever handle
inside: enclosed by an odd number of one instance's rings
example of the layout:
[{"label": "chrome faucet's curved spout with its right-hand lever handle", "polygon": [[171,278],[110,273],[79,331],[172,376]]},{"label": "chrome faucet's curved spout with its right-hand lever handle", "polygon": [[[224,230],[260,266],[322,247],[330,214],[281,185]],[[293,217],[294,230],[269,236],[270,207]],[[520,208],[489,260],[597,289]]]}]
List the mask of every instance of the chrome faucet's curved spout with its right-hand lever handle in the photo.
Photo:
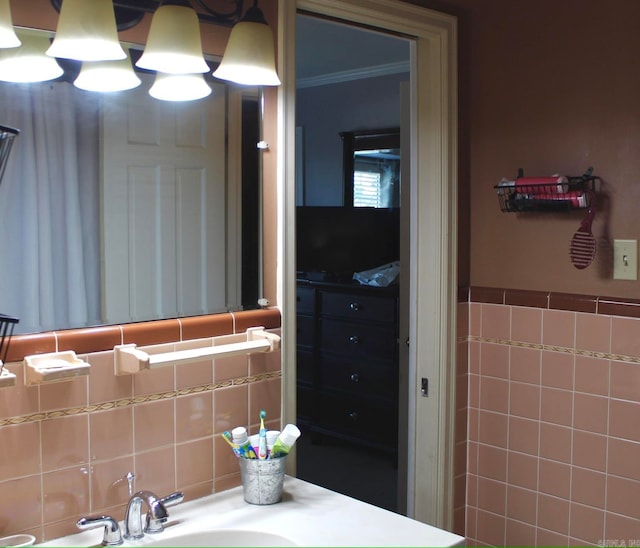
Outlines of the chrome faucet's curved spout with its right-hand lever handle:
[{"label": "chrome faucet's curved spout with its right-hand lever handle", "polygon": [[[124,538],[138,540],[145,533],[161,533],[164,523],[169,518],[167,506],[178,504],[184,500],[184,494],[180,491],[160,499],[151,491],[138,491],[127,504],[124,515]],[[142,503],[147,505],[147,517],[144,529],[142,528]]]}]

